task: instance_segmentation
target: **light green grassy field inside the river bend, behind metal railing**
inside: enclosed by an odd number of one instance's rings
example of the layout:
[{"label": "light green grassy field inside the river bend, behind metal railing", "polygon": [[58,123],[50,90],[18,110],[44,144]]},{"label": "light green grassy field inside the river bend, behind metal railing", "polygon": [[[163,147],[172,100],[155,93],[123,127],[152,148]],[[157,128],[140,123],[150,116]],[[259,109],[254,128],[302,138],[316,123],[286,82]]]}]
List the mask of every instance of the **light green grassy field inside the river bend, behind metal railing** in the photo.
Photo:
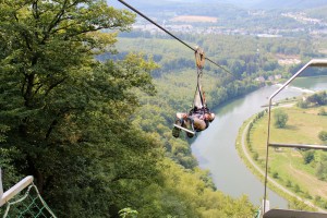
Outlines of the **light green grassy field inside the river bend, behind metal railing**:
[{"label": "light green grassy field inside the river bend, behind metal railing", "polygon": [[[327,108],[325,107],[325,110]],[[318,133],[327,130],[327,117],[318,116],[320,107],[300,109],[298,107],[282,108],[289,120],[283,129],[274,126],[274,110],[271,120],[270,142],[288,144],[324,144]],[[257,120],[250,134],[252,153],[257,154],[261,166],[265,162],[267,141],[267,118],[265,114]],[[325,143],[326,144],[326,143]],[[322,150],[315,152],[315,161],[304,164],[304,150],[292,148],[269,149],[269,173],[283,186],[308,199],[323,198],[327,201],[327,182],[318,180],[316,167]]]}]

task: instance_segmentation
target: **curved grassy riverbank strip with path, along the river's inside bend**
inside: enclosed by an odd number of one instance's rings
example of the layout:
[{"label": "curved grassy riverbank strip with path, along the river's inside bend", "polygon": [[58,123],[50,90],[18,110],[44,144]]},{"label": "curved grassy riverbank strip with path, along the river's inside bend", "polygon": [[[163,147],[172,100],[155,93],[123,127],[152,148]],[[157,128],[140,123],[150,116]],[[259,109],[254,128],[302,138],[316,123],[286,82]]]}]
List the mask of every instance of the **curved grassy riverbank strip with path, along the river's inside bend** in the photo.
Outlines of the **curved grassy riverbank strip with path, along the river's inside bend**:
[{"label": "curved grassy riverbank strip with path, along the river's inside bend", "polygon": [[[250,129],[250,126],[252,128],[254,121],[257,120],[257,118],[258,118],[258,114],[255,114],[255,116],[251,117],[250,119],[247,119],[246,121],[244,121],[244,123],[242,124],[242,126],[239,130],[239,135],[237,137],[235,145],[237,145],[238,153],[239,153],[241,159],[243,160],[243,162],[264,183],[264,179],[265,179],[264,169],[265,169],[266,161],[265,160],[263,161],[263,159],[259,161],[255,161],[255,160],[258,160],[257,153],[250,152],[249,149],[252,149],[252,148],[251,147],[249,148],[249,146],[246,146],[246,145],[249,145],[247,144],[249,129]],[[314,205],[311,201],[299,196],[291,190],[281,185],[280,183],[278,183],[276,180],[274,180],[269,175],[267,177],[267,179],[268,179],[268,183],[267,183],[268,186],[271,190],[274,190],[275,192],[277,192],[279,195],[281,195],[282,197],[287,198],[289,202],[289,205],[291,205],[291,207],[295,207],[296,209],[302,209],[302,210],[325,211],[323,208]],[[268,196],[268,199],[269,199],[269,196]]]}]

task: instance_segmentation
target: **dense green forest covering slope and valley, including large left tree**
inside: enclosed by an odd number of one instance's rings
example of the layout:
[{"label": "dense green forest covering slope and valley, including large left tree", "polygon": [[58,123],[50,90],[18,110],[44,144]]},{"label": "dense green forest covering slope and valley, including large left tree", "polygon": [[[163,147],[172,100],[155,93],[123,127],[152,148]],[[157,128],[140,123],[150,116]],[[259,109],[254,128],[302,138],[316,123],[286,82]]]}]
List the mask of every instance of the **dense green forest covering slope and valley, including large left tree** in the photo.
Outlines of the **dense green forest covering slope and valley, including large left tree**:
[{"label": "dense green forest covering slope and valley, including large left tree", "polygon": [[[253,216],[257,206],[246,196],[216,190],[191,141],[171,136],[174,113],[194,94],[192,52],[165,36],[125,34],[135,14],[102,0],[8,0],[0,8],[4,190],[34,175],[58,217],[119,217],[123,208],[140,217]],[[265,85],[258,76],[288,77],[299,68],[279,65],[275,52],[306,60],[324,44],[183,38],[229,69],[204,69],[211,108]]]}]

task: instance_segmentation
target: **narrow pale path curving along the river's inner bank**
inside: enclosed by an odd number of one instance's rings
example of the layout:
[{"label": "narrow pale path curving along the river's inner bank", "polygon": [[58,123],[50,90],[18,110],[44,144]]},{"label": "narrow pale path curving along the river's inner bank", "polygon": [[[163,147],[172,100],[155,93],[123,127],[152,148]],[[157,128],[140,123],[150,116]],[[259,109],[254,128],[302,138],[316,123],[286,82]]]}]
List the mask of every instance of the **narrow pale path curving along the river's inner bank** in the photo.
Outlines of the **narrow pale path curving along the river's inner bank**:
[{"label": "narrow pale path curving along the river's inner bank", "polygon": [[[246,132],[247,132],[247,130],[249,130],[249,125],[250,125],[250,122],[246,124],[246,126],[244,128],[243,133],[242,133],[242,140],[241,140],[242,150],[243,150],[243,154],[245,155],[246,159],[249,160],[249,162],[254,167],[254,169],[255,169],[256,171],[258,171],[258,172],[265,178],[265,171],[262,170],[262,169],[256,165],[256,162],[251,158],[251,155],[250,155],[250,153],[247,152],[246,146],[245,146],[245,138],[246,138]],[[306,205],[308,205],[308,206],[311,206],[311,207],[316,208],[318,211],[326,211],[326,210],[324,210],[323,208],[315,206],[315,205],[314,205],[313,203],[311,203],[310,201],[304,199],[304,198],[298,196],[296,194],[294,194],[293,192],[289,191],[288,189],[286,189],[284,186],[282,186],[281,184],[279,184],[279,183],[276,182],[275,180],[272,180],[269,175],[267,177],[267,181],[268,181],[268,182],[271,182],[277,189],[281,190],[282,192],[287,193],[288,195],[290,195],[290,196],[292,196],[292,197],[295,197],[296,199],[299,199],[299,201],[305,203]]]}]

